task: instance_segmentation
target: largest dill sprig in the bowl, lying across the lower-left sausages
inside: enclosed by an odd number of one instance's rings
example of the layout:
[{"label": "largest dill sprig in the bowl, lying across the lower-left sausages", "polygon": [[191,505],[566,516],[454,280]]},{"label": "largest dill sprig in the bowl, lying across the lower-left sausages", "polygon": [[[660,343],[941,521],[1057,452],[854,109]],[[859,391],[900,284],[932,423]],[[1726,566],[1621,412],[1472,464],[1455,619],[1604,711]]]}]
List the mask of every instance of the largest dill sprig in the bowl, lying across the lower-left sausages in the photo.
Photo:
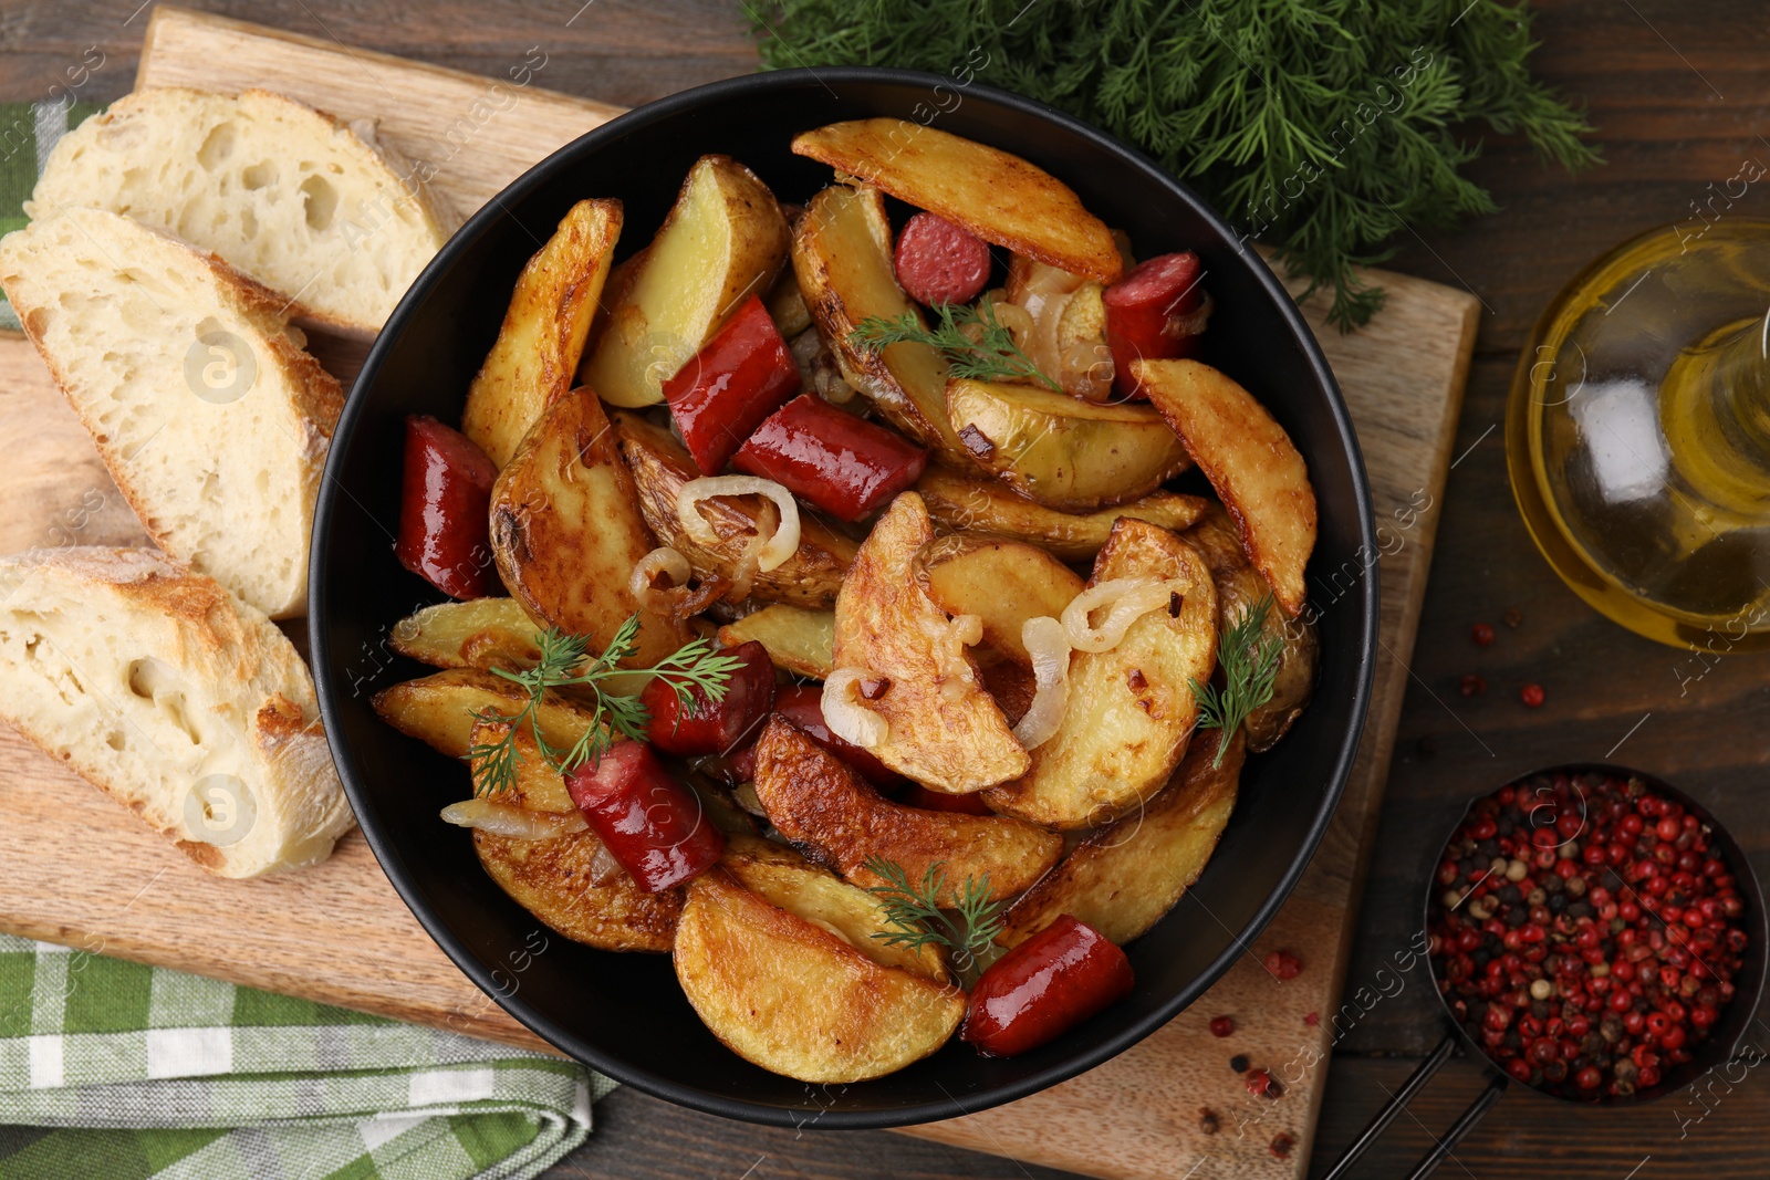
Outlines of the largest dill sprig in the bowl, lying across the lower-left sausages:
[{"label": "largest dill sprig in the bowl, lying across the lower-left sausages", "polygon": [[[611,678],[620,678],[623,686],[662,678],[669,685],[676,701],[694,713],[699,708],[696,690],[706,701],[719,702],[726,697],[731,674],[740,667],[740,660],[719,655],[713,640],[694,639],[648,669],[625,669],[620,662],[639,649],[639,616],[630,616],[614,632],[614,639],[602,655],[589,658],[589,639],[570,635],[556,626],[549,626],[538,637],[540,660],[531,669],[510,672],[492,669],[494,676],[503,676],[527,690],[529,697],[517,713],[499,713],[487,708],[474,713],[474,720],[489,724],[506,724],[497,741],[474,743],[467,750],[467,759],[478,771],[476,793],[497,794],[508,791],[517,782],[522,766],[522,752],[517,748],[517,734],[524,724],[535,738],[535,748],[542,759],[559,773],[570,773],[584,762],[602,761],[604,752],[614,739],[612,734],[643,741],[651,715],[637,695],[614,692],[607,685]],[[595,704],[595,716],[589,727],[575,743],[566,748],[549,745],[536,722],[536,711],[554,688],[588,688]]]}]

